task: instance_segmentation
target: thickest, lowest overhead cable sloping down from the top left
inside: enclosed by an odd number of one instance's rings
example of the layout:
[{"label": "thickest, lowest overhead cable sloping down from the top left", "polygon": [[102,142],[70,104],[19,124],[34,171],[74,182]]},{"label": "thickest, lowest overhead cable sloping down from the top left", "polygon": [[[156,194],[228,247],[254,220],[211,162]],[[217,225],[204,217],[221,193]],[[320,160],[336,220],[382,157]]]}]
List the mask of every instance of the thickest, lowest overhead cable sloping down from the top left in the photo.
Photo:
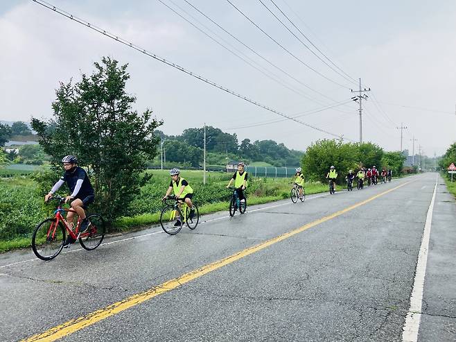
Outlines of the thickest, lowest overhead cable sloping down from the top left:
[{"label": "thickest, lowest overhead cable sloping down from the top left", "polygon": [[[129,46],[130,48],[132,48],[134,50],[137,50],[137,51],[139,51],[141,53],[144,53],[145,55],[148,55],[149,57],[154,58],[155,60],[159,60],[160,62],[163,62],[164,64],[169,65],[170,67],[174,67],[175,69],[178,69],[178,70],[184,72],[185,74],[193,76],[194,78],[198,78],[198,80],[202,80],[204,83],[207,83],[209,85],[212,85],[213,87],[216,87],[216,88],[218,88],[220,90],[223,90],[224,92],[227,92],[227,93],[229,93],[231,95],[234,95],[234,96],[238,97],[239,99],[243,99],[244,101],[247,101],[247,102],[252,103],[252,104],[254,104],[254,105],[258,106],[258,107],[261,107],[261,108],[263,108],[265,110],[268,110],[270,112],[278,114],[281,117],[285,117],[285,118],[290,119],[292,121],[295,121],[297,123],[301,123],[301,125],[307,126],[309,128],[313,128],[314,130],[318,130],[319,132],[324,132],[324,133],[326,133],[328,135],[331,135],[333,137],[343,138],[341,135],[337,135],[337,134],[334,134],[332,132],[328,132],[326,130],[322,130],[322,128],[318,128],[316,126],[310,125],[309,123],[305,123],[304,121],[299,121],[297,119],[294,119],[294,118],[290,117],[287,114],[283,114],[282,112],[274,110],[273,108],[270,108],[270,107],[268,107],[266,105],[263,105],[262,103],[258,103],[258,102],[254,101],[252,99],[249,99],[249,98],[247,98],[247,96],[243,96],[241,94],[238,94],[238,93],[232,91],[231,89],[223,87],[222,85],[218,85],[217,83],[215,83],[215,82],[213,82],[213,81],[211,81],[211,80],[209,80],[207,78],[204,78],[204,77],[202,77],[200,75],[197,75],[197,74],[193,73],[193,71],[185,69],[184,67],[181,67],[180,65],[177,65],[177,64],[175,64],[173,62],[170,62],[170,61],[166,60],[165,58],[159,57],[159,55],[156,55],[155,53],[151,53],[149,51],[146,51],[146,49],[141,48],[141,46],[137,46],[136,44],[133,44],[132,42],[128,42],[127,40],[124,40],[123,38],[119,37],[118,35],[114,35],[113,33],[110,33],[109,31],[105,31],[105,30],[103,30],[103,28],[99,28],[98,26],[96,26],[94,24],[90,24],[89,22],[85,21],[84,19],[80,19],[78,17],[75,17],[75,16],[71,15],[71,13],[69,13],[69,12],[66,12],[64,10],[60,10],[60,8],[57,8],[57,7],[53,6],[53,5],[51,5],[50,3],[47,3],[46,1],[42,1],[42,0],[32,0],[32,1],[35,2],[35,3],[40,4],[41,6],[43,6],[45,8],[48,8],[49,10],[53,10],[54,12],[57,12],[58,14],[63,15],[64,17],[67,17],[67,18],[77,22],[78,24],[86,26],[87,28],[91,28],[92,30],[97,31],[98,33],[101,33],[101,34],[111,38],[112,40],[116,40],[117,42],[120,42],[121,44],[124,44],[124,45]],[[345,138],[345,139],[347,139],[347,138]],[[350,139],[347,139],[347,140],[350,140]]]}]

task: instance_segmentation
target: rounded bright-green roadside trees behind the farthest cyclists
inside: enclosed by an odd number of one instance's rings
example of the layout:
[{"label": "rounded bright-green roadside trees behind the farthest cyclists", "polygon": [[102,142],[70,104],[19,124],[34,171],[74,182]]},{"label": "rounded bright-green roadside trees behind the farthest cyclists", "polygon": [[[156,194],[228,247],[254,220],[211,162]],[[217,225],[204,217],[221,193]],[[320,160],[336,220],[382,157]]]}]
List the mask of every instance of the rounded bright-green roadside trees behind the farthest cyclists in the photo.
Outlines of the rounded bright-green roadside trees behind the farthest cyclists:
[{"label": "rounded bright-green roadside trees behind the farthest cyclists", "polygon": [[358,171],[361,167],[377,169],[391,169],[393,176],[403,173],[405,156],[397,152],[385,152],[376,144],[344,143],[342,140],[318,140],[308,146],[306,154],[301,160],[304,176],[309,180],[324,182],[326,173],[331,165],[335,166],[339,180],[351,169]]}]

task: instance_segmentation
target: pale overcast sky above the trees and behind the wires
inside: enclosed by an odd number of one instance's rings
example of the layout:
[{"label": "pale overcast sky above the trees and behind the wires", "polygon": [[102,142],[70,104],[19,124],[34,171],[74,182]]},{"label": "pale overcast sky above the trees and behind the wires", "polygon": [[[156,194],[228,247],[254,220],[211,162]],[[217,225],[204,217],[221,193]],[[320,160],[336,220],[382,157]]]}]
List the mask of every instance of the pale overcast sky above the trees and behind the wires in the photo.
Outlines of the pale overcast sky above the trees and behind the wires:
[{"label": "pale overcast sky above the trees and behind the wires", "polygon": [[[364,141],[398,151],[401,134],[396,127],[403,123],[403,148],[410,153],[413,136],[418,139],[415,152],[421,145],[426,155],[441,155],[455,142],[456,1],[274,0],[310,43],[271,0],[262,0],[310,49],[261,1],[230,1],[295,57],[225,0],[188,2],[252,50],[184,0],[51,4],[249,99],[292,117],[300,115],[297,119],[347,139],[359,140],[358,103],[351,101],[356,94],[350,89],[358,89],[361,78],[362,87],[371,88],[369,99],[362,102]],[[168,135],[205,122],[236,132],[239,142],[274,139],[301,151],[317,139],[332,138],[294,121],[277,122],[283,118],[33,1],[0,2],[0,46],[2,120],[51,117],[59,82],[80,80],[82,72],[91,74],[93,63],[109,55],[129,65],[128,92],[137,96],[135,109],[152,109],[164,120],[161,130]]]}]

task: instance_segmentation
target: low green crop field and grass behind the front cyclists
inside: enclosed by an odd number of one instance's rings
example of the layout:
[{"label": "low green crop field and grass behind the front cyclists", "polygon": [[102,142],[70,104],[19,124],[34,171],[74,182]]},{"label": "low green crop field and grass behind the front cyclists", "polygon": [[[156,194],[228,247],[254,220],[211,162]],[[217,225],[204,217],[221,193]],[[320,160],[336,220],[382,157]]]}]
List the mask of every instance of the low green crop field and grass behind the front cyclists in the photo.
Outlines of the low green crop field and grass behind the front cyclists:
[{"label": "low green crop field and grass behind the front cyclists", "polygon": [[[109,230],[127,231],[158,223],[163,207],[161,198],[170,182],[168,170],[148,170],[152,177],[130,205],[130,215],[112,223]],[[200,214],[228,210],[231,191],[226,186],[231,173],[207,172],[207,184],[203,185],[202,171],[182,171],[194,190],[193,200],[200,208]],[[247,203],[249,205],[268,203],[288,198],[290,178],[249,178]],[[67,191],[61,188],[61,195]],[[326,185],[306,184],[306,194],[326,191]],[[33,229],[50,216],[54,207],[44,204],[37,182],[29,176],[0,178],[0,252],[30,246]]]}]

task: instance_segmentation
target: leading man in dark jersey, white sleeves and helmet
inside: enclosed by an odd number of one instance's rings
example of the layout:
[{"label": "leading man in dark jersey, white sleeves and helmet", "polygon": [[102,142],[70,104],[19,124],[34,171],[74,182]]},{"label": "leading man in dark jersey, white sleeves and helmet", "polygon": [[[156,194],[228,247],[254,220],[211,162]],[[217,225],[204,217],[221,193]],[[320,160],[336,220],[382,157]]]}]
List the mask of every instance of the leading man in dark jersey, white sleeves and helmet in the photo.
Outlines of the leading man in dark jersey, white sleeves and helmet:
[{"label": "leading man in dark jersey, white sleeves and helmet", "polygon": [[[65,198],[65,203],[68,203],[70,200],[71,208],[78,214],[82,223],[80,226],[79,234],[87,232],[89,228],[89,220],[85,216],[85,209],[87,205],[93,203],[95,200],[94,188],[90,184],[89,176],[82,167],[78,166],[78,158],[74,155],[66,155],[62,159],[63,168],[65,173],[60,180],[55,183],[52,187],[49,194],[44,196],[44,201],[47,202],[49,198],[57,191],[64,182],[67,183],[71,195]],[[68,212],[67,222],[72,226],[74,219],[74,212]],[[76,240],[73,240],[70,236],[67,237],[67,240],[64,242],[63,246],[68,248],[71,243],[74,243]]]}]

